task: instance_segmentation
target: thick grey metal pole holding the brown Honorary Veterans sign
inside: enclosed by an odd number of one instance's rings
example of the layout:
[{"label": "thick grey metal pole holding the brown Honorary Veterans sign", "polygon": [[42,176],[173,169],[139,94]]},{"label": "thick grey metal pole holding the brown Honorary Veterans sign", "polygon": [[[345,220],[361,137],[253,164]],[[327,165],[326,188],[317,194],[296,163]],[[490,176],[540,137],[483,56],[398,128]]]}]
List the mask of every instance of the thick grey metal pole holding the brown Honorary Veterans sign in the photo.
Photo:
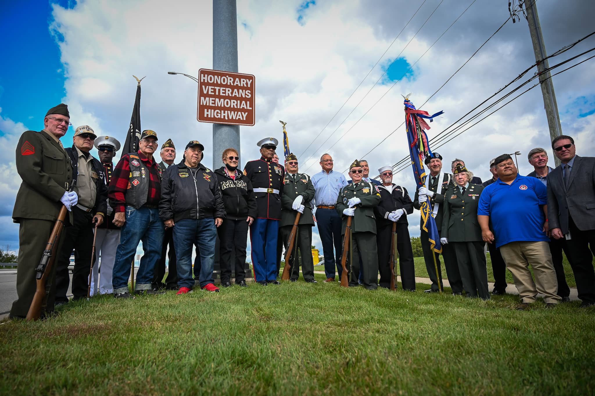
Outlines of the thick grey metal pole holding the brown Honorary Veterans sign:
[{"label": "thick grey metal pole holding the brown Honorary Veterans sign", "polygon": [[[213,69],[237,73],[236,0],[213,0]],[[240,125],[213,124],[213,169],[229,147],[237,150],[241,164]]]}]

